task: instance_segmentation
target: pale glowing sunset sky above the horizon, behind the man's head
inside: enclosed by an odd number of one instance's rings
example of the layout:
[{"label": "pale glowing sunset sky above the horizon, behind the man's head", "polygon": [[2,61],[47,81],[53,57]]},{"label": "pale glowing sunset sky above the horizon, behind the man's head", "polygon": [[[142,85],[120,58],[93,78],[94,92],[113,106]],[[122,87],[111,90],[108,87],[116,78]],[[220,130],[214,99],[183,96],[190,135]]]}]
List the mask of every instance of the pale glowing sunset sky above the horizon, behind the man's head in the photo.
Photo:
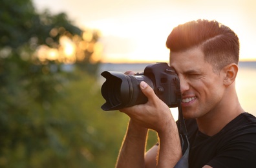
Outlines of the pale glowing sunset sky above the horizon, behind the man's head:
[{"label": "pale glowing sunset sky above the horizon, behind the man's head", "polygon": [[165,41],[171,30],[197,19],[217,20],[240,39],[240,60],[256,61],[254,0],[33,0],[40,12],[65,12],[75,25],[100,30],[101,60],[169,61]]}]

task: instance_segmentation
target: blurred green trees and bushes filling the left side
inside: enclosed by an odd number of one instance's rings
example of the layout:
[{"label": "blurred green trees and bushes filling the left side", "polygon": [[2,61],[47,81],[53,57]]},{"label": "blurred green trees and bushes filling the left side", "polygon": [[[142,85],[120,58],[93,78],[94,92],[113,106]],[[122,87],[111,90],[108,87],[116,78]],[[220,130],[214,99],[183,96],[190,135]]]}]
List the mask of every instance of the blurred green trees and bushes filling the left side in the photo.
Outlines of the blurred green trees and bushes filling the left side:
[{"label": "blurred green trees and bushes filling the left side", "polygon": [[[82,34],[66,14],[37,14],[31,0],[1,1],[0,167],[114,167],[128,118],[100,109],[100,63],[90,62],[100,36]],[[58,49],[61,36],[88,46],[70,72],[36,55],[42,45]],[[153,145],[155,133],[149,137]]]}]

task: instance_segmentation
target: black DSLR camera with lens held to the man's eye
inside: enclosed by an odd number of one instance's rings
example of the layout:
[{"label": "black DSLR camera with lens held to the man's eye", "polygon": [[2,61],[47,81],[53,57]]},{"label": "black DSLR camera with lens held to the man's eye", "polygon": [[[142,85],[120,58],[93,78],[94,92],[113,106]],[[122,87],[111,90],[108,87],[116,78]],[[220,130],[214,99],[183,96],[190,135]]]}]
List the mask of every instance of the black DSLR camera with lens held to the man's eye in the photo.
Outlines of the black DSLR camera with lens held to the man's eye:
[{"label": "black DSLR camera with lens held to the man's eye", "polygon": [[180,80],[167,63],[147,65],[143,73],[135,75],[104,71],[101,76],[106,78],[101,86],[101,95],[106,100],[101,109],[105,111],[147,103],[147,97],[140,90],[141,81],[152,87],[156,96],[168,107],[177,107],[181,101]]}]

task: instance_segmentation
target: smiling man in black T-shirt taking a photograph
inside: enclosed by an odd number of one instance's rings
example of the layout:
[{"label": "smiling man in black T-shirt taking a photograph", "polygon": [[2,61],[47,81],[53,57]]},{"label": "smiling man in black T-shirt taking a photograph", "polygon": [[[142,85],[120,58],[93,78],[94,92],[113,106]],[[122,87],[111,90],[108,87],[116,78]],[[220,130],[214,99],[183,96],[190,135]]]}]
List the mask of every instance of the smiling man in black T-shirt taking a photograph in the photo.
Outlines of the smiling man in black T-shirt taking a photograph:
[{"label": "smiling man in black T-shirt taking a photograph", "polygon": [[[256,119],[235,90],[237,35],[217,21],[198,20],[174,28],[166,45],[180,79],[189,167],[255,167]],[[120,110],[131,119],[116,167],[174,167],[182,157],[176,122],[147,83],[140,89],[147,103]],[[144,155],[148,129],[158,133],[159,145]]]}]

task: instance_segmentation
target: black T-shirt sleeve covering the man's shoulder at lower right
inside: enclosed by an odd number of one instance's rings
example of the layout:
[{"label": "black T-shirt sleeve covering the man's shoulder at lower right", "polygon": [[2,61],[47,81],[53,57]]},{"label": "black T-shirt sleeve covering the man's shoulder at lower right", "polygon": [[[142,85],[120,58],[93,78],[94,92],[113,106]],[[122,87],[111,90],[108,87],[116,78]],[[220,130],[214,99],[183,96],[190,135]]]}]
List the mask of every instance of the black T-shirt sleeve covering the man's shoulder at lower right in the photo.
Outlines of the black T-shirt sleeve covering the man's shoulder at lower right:
[{"label": "black T-shirt sleeve covering the man's shoulder at lower right", "polygon": [[213,167],[251,167],[256,165],[256,118],[242,113],[213,137],[217,142]]}]

